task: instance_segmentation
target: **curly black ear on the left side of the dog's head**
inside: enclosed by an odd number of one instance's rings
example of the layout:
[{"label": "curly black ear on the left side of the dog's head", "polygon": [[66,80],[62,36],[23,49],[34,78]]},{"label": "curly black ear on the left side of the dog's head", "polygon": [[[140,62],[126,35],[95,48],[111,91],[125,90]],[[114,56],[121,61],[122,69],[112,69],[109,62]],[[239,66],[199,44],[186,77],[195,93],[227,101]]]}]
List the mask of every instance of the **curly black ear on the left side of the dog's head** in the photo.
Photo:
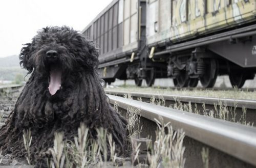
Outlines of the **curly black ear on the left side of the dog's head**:
[{"label": "curly black ear on the left side of the dog's head", "polygon": [[33,63],[31,60],[31,43],[24,44],[19,54],[19,65],[28,70],[28,73],[33,71]]}]

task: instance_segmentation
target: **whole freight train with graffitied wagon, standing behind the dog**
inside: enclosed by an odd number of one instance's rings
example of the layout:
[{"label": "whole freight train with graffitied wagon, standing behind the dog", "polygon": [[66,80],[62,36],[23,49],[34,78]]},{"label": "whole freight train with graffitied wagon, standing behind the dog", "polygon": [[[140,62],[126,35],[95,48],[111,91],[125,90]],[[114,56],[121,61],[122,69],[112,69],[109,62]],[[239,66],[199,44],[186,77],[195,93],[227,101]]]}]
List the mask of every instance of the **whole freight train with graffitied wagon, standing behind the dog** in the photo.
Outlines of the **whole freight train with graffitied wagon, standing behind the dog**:
[{"label": "whole freight train with graffitied wagon, standing behind the dog", "polygon": [[255,0],[114,0],[81,32],[100,49],[99,76],[173,78],[213,87],[228,74],[241,88],[256,72]]}]

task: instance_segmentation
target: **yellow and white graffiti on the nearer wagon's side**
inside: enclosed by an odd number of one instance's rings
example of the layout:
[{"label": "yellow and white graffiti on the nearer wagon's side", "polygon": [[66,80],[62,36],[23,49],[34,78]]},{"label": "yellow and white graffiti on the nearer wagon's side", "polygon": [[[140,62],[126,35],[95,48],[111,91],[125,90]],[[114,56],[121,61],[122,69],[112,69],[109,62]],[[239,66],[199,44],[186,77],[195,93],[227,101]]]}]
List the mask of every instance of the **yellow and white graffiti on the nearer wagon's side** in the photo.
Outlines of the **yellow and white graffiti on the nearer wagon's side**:
[{"label": "yellow and white graffiti on the nearer wagon's side", "polygon": [[255,4],[249,0],[173,0],[172,40],[225,29],[241,21],[250,21]]}]

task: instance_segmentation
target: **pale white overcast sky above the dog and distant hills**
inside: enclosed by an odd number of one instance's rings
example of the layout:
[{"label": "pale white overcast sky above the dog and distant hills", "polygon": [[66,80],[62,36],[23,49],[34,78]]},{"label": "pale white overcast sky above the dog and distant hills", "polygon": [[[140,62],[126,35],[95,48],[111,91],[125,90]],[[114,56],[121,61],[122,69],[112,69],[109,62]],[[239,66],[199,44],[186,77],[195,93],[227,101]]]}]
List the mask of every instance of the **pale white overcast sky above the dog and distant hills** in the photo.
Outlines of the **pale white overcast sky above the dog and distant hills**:
[{"label": "pale white overcast sky above the dog and distant hills", "polygon": [[0,57],[18,55],[46,26],[82,31],[113,0],[1,0]]}]

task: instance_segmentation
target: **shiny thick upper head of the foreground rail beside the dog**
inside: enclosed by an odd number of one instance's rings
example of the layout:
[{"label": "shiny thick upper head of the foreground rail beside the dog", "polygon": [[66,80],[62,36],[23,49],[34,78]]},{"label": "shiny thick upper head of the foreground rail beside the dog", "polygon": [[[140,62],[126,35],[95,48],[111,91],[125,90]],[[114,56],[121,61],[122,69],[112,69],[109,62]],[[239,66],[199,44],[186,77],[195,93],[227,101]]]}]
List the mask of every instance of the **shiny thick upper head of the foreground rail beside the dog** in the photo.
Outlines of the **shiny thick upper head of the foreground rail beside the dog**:
[{"label": "shiny thick upper head of the foreground rail beside the dog", "polygon": [[120,108],[139,108],[141,116],[151,121],[161,116],[164,123],[171,122],[175,130],[182,128],[186,136],[256,165],[256,128],[132,99],[107,96],[110,103],[117,102]]}]

